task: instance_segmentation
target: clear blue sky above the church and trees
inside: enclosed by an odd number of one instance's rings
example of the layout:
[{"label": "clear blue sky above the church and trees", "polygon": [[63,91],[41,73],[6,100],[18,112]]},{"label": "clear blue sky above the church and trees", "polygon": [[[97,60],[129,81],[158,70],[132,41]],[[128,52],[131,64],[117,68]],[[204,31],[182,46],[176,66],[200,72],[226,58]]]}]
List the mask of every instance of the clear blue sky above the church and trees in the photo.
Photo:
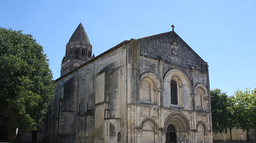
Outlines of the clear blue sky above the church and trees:
[{"label": "clear blue sky above the church and trees", "polygon": [[256,1],[0,1],[0,26],[30,33],[54,79],[82,22],[95,56],[123,40],[175,32],[209,65],[210,88],[256,88]]}]

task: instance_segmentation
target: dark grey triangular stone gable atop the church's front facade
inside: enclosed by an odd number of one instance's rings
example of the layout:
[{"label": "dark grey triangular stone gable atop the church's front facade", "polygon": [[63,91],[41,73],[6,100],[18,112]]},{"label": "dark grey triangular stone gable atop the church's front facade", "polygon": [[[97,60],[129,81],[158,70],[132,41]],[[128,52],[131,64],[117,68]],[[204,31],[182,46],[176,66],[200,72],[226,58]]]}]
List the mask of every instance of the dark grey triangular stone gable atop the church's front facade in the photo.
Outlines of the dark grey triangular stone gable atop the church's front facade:
[{"label": "dark grey triangular stone gable atop the church's front facade", "polygon": [[206,62],[173,31],[142,38],[137,42],[140,45],[140,55],[143,57],[204,72],[203,64]]}]

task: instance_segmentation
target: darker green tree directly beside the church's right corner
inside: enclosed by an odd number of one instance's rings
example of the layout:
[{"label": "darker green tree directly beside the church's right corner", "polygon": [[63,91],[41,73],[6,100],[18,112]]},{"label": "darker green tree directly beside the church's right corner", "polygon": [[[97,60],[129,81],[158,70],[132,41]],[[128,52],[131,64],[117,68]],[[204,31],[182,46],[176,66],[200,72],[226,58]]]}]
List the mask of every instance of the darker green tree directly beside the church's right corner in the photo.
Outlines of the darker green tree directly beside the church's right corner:
[{"label": "darker green tree directly beside the church's right corner", "polygon": [[227,133],[230,130],[230,139],[232,141],[231,130],[236,125],[234,120],[234,105],[233,96],[228,97],[226,93],[222,93],[220,89],[215,88],[210,90],[213,132],[221,134]]}]

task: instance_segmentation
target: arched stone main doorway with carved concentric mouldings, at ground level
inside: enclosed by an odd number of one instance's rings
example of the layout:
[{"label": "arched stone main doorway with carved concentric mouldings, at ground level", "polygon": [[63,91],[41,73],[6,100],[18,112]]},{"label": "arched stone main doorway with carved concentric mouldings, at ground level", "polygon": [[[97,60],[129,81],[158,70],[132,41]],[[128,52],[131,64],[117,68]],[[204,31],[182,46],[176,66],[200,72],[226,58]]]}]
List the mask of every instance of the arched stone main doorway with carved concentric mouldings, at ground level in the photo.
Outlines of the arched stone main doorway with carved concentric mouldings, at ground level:
[{"label": "arched stone main doorway with carved concentric mouldings, at ground level", "polygon": [[189,142],[189,120],[182,113],[171,113],[164,123],[166,142]]}]

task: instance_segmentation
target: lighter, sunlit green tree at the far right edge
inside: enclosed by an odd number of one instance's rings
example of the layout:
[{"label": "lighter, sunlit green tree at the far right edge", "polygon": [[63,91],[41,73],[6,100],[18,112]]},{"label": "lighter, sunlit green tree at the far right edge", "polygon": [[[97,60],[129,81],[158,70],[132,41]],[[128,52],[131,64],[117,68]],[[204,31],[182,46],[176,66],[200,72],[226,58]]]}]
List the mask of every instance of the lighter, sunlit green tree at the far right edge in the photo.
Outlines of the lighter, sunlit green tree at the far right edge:
[{"label": "lighter, sunlit green tree at the far right edge", "polygon": [[235,116],[238,120],[237,127],[248,132],[256,127],[256,88],[250,91],[250,88],[235,91]]}]

